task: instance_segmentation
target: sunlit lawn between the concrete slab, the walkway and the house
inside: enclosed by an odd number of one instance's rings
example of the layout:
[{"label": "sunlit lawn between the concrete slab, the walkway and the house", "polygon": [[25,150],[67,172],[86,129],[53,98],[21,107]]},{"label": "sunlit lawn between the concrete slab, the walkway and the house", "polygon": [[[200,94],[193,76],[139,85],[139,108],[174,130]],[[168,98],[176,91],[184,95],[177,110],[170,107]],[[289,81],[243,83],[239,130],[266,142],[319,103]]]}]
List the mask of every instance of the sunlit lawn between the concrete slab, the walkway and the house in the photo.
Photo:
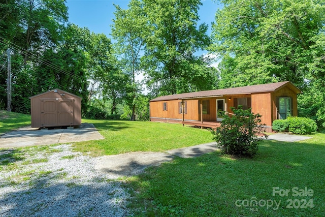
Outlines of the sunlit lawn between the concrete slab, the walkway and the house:
[{"label": "sunlit lawn between the concrete slab, the walkway and the house", "polygon": [[212,141],[208,130],[183,127],[180,124],[122,120],[89,120],[103,140],[76,142],[75,151],[90,152],[92,156],[132,151],[164,151]]}]

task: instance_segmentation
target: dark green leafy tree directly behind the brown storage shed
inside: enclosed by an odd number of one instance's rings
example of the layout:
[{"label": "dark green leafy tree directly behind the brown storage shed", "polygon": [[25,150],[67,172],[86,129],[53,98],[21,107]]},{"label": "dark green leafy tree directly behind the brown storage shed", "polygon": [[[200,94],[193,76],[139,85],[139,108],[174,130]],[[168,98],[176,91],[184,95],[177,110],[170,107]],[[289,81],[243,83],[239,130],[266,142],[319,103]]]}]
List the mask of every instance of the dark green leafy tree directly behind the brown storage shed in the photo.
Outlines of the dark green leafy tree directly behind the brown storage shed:
[{"label": "dark green leafy tree directly behind the brown storage shed", "polygon": [[62,32],[62,40],[55,49],[46,49],[42,58],[35,62],[34,77],[37,92],[61,88],[83,98],[82,111],[86,112],[89,77],[86,64],[86,48],[90,32],[87,28],[69,24]]}]

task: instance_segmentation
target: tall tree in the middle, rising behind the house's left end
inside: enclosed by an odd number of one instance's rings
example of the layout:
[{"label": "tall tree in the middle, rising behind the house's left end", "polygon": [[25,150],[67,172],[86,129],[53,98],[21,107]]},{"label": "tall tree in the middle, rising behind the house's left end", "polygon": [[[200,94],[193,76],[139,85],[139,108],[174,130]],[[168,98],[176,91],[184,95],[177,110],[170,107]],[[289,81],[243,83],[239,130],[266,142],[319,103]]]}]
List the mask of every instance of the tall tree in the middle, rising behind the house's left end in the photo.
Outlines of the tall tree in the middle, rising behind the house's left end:
[{"label": "tall tree in the middle, rising behind the house's left end", "polygon": [[210,89],[202,84],[210,84],[213,71],[204,67],[203,57],[194,54],[210,44],[208,26],[198,26],[201,1],[143,2],[150,26],[142,57],[147,86],[155,95]]}]

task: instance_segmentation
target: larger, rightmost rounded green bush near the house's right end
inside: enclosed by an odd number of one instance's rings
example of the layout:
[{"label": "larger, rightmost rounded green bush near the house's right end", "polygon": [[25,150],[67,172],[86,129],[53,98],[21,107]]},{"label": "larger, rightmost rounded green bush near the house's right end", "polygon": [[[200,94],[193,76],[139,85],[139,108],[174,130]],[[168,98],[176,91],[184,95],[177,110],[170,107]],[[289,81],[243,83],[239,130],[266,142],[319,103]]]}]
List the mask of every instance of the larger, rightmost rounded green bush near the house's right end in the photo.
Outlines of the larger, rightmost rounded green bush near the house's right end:
[{"label": "larger, rightmost rounded green bush near the house's right end", "polygon": [[317,131],[316,122],[308,117],[288,117],[289,131],[294,134],[310,134]]}]

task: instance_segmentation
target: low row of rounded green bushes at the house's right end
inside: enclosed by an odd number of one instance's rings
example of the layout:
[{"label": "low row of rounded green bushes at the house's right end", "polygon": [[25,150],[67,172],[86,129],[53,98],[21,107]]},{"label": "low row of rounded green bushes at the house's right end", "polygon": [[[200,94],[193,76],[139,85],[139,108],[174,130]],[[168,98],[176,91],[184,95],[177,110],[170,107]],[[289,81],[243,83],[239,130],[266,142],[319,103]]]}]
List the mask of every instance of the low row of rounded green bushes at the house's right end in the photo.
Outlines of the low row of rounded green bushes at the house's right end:
[{"label": "low row of rounded green bushes at the house's right end", "polygon": [[310,134],[317,131],[317,125],[315,120],[308,117],[288,117],[287,119],[274,120],[272,130],[294,134]]}]

